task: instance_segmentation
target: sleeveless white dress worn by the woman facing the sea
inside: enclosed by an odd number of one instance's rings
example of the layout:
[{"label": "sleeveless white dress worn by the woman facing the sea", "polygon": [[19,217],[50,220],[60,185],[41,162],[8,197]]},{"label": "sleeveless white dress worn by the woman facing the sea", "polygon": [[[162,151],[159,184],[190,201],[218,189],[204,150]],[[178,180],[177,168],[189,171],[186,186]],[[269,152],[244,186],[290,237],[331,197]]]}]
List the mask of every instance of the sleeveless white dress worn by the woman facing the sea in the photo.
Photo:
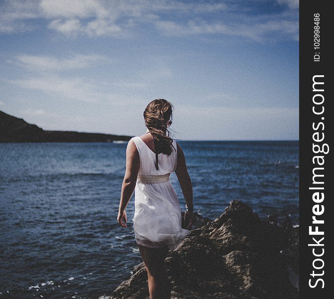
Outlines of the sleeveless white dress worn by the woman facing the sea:
[{"label": "sleeveless white dress worn by the woman facing the sea", "polygon": [[[156,153],[153,152],[139,137],[132,140],[140,156],[138,177],[165,174],[167,180],[163,182],[142,182],[137,179],[135,188],[135,215],[134,222],[135,239],[137,244],[147,247],[168,246],[173,250],[190,230],[181,228],[181,208],[177,195],[169,181],[167,173],[176,169],[177,151],[176,141],[172,145],[172,152],[158,155],[156,169]],[[157,177],[158,177],[157,176]],[[156,178],[156,177],[153,177]]]}]

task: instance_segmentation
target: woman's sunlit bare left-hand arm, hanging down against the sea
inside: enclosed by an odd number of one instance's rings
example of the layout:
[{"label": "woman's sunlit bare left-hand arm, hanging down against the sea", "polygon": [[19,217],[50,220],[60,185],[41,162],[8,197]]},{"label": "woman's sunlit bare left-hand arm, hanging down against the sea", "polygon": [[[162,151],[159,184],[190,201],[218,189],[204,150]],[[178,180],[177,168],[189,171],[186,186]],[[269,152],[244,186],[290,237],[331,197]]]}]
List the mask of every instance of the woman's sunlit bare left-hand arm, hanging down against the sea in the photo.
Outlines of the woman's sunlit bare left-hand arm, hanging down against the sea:
[{"label": "woman's sunlit bare left-hand arm, hanging down against the sea", "polygon": [[[118,210],[117,222],[127,227],[127,214],[125,208],[131,199],[131,196],[136,187],[137,175],[140,166],[138,149],[133,140],[130,140],[126,150],[126,169],[122,183],[121,200]],[[124,219],[124,222],[123,222]]]}]

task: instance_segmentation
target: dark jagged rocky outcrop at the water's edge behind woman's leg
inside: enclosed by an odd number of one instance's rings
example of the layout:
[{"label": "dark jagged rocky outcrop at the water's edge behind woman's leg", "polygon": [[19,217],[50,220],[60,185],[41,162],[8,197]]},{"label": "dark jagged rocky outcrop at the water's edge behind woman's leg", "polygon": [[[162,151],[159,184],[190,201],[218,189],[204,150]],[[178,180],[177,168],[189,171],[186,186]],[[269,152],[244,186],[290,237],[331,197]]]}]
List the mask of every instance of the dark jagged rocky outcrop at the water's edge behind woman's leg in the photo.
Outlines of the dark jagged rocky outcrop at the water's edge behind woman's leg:
[{"label": "dark jagged rocky outcrop at the water's edge behind woman's leg", "polygon": [[[165,260],[171,299],[299,298],[289,279],[298,272],[298,228],[260,220],[240,201],[214,221],[196,219],[197,227]],[[149,299],[143,263],[110,298]]]}]

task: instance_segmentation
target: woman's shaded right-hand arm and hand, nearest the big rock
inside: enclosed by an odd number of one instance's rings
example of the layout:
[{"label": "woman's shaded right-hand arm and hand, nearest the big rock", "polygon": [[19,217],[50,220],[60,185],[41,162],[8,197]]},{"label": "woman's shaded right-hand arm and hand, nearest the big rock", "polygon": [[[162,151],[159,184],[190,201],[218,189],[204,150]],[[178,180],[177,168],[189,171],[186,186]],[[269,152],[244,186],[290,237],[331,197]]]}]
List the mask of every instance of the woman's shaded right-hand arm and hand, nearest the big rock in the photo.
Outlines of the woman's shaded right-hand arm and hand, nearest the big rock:
[{"label": "woman's shaded right-hand arm and hand, nearest the big rock", "polygon": [[[185,163],[185,157],[183,150],[176,143],[177,147],[177,165],[175,169],[175,174],[177,176],[178,182],[180,183],[181,190],[184,196],[185,203],[189,209],[193,208],[192,202],[192,184],[190,180],[190,176],[188,174],[187,166]],[[185,211],[184,213],[184,222],[185,227],[190,228],[193,222],[193,214],[192,212]]]}]

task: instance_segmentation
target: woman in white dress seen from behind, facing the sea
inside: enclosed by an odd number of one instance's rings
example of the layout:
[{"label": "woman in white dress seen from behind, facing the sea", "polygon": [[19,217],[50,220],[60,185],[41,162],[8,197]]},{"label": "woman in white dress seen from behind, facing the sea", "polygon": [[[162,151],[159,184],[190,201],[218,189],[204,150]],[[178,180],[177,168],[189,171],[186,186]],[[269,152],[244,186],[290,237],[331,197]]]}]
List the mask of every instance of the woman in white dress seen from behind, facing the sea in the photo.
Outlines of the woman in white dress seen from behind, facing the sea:
[{"label": "woman in white dress seen from behind, facing the sea", "polygon": [[[148,274],[150,299],[169,299],[165,269],[168,249],[174,249],[190,233],[193,222],[192,185],[180,146],[169,137],[173,106],[163,99],[144,111],[145,135],[132,138],[126,150],[126,171],[117,221],[127,227],[125,208],[135,191],[135,239]],[[169,181],[175,171],[186,202],[184,225],[181,209]]]}]

